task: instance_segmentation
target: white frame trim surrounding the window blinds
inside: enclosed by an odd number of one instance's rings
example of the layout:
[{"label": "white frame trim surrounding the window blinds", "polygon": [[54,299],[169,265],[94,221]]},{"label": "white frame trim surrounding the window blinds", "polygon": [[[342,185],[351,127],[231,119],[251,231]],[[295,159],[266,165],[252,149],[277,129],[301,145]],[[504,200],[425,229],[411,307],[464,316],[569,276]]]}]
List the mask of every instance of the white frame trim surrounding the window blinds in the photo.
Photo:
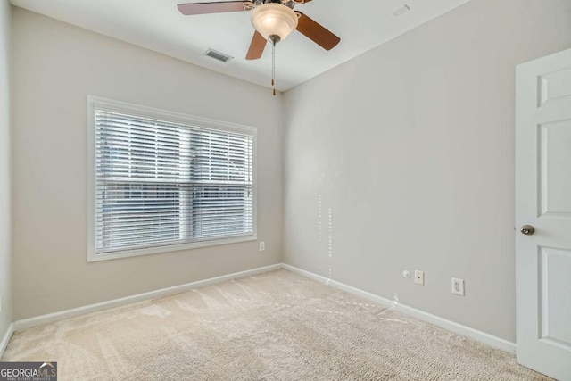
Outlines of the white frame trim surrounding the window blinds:
[{"label": "white frame trim surrounding the window blinds", "polygon": [[[112,253],[96,253],[96,170],[95,170],[95,109],[110,112],[126,112],[138,117],[147,117],[170,122],[189,124],[200,128],[209,128],[222,132],[236,132],[252,137],[252,235],[234,236],[229,238],[218,238],[205,241],[197,241],[185,244],[164,244],[160,246],[128,249]],[[129,104],[126,102],[114,101],[98,96],[87,95],[87,261],[106,261],[118,258],[128,258],[139,255],[149,255],[157,253],[169,253],[182,250],[197,249],[200,247],[217,246],[221,244],[237,244],[241,242],[255,241],[258,238],[258,213],[257,213],[257,146],[258,128],[245,126],[222,120],[212,120],[185,114],[182,112],[171,112],[140,104]]]}]

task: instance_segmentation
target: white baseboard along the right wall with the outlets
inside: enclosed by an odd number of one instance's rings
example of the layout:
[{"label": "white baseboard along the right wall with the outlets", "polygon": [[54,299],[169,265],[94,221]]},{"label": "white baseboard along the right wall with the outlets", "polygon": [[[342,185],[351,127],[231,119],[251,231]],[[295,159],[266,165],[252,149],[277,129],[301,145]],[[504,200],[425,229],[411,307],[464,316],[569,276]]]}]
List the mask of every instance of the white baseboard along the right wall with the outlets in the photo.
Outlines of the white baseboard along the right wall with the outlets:
[{"label": "white baseboard along the right wall with the outlets", "polygon": [[314,274],[310,271],[298,269],[294,266],[291,266],[291,265],[288,265],[285,263],[282,263],[282,267],[284,269],[288,269],[294,273],[302,275],[303,277],[309,277],[310,279],[317,280],[318,282],[322,282],[322,283],[330,285],[330,286],[334,286],[335,288],[346,291],[350,294],[355,294],[355,295],[360,296],[362,298],[365,298],[371,302],[377,302],[378,304],[381,304],[385,307],[393,308],[396,311],[399,311],[399,312],[405,313],[407,315],[410,315],[414,318],[426,321],[427,323],[434,324],[434,326],[443,327],[444,329],[448,329],[449,331],[452,331],[456,334],[469,337],[469,338],[474,339],[480,343],[488,344],[494,348],[498,348],[498,349],[501,349],[502,351],[509,352],[512,354],[516,353],[516,344],[511,343],[508,340],[504,340],[500,337],[496,337],[494,335],[486,334],[485,332],[478,331],[477,329],[463,326],[463,325],[456,323],[454,321],[451,321],[448,319],[443,319],[441,317],[432,315],[428,312],[420,311],[420,310],[414,309],[412,307],[406,306],[406,305],[401,304],[401,303],[390,301],[390,300],[383,298],[381,296],[378,296],[376,294],[371,294],[371,293],[368,293],[367,291],[360,290],[359,288],[347,286],[343,283],[337,282],[335,280],[328,279],[327,277],[322,277],[322,276]]}]

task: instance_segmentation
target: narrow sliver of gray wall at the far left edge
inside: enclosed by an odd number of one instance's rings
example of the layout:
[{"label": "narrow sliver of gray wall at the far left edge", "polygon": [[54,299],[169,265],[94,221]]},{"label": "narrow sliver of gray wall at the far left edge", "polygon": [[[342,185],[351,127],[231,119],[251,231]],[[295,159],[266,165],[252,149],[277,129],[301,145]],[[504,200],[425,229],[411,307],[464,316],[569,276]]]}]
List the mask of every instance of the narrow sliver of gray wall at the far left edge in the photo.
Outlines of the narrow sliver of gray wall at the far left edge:
[{"label": "narrow sliver of gray wall at the far left edge", "polygon": [[10,2],[0,2],[0,341],[12,323],[11,154],[10,154]]}]

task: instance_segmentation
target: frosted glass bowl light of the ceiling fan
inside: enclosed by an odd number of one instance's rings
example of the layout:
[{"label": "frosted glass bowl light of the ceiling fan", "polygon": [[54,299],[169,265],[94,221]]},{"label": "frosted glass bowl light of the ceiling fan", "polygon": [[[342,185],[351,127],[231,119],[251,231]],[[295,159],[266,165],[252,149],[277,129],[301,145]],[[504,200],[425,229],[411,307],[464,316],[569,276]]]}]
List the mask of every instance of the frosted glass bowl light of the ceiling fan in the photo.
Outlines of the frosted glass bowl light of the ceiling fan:
[{"label": "frosted glass bowl light of the ceiling fan", "polygon": [[251,21],[253,28],[261,36],[266,39],[272,37],[275,42],[285,40],[285,37],[297,28],[297,14],[288,6],[278,3],[261,4],[255,7]]}]

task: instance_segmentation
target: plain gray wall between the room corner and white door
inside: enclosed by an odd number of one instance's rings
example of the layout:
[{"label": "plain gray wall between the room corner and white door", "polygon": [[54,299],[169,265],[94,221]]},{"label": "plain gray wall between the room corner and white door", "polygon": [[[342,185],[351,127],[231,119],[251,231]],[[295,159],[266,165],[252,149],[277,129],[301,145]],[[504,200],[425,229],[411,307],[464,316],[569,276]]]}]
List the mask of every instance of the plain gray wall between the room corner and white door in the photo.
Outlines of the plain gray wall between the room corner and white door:
[{"label": "plain gray wall between the room corner and white door", "polygon": [[472,0],[287,91],[284,261],[514,342],[515,66],[569,46],[568,0]]}]

